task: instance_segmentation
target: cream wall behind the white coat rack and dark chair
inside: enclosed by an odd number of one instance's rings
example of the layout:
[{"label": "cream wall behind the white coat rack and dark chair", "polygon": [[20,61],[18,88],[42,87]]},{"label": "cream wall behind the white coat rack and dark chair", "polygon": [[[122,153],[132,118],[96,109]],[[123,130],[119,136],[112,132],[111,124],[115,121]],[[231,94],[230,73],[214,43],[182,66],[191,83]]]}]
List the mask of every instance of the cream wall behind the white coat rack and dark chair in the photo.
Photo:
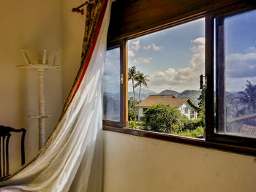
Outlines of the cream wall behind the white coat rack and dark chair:
[{"label": "cream wall behind the white coat rack and dark chair", "polygon": [[[26,128],[26,162],[38,150],[37,72],[20,69],[24,64],[20,49],[37,64],[38,53],[46,48],[48,63],[58,51],[56,64],[61,64],[61,0],[0,1],[0,125]],[[45,72],[45,110],[54,115],[46,120],[46,138],[52,132],[61,113],[61,69]],[[20,136],[10,139],[10,172],[20,167]]]}]

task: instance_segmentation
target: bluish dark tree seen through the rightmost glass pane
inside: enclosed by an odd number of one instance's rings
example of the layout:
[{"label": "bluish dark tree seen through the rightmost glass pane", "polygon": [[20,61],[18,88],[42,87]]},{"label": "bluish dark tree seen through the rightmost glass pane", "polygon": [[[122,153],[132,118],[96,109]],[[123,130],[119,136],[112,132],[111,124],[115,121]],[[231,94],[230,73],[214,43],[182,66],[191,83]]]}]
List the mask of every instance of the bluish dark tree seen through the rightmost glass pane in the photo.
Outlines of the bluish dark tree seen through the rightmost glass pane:
[{"label": "bluish dark tree seen through the rightmost glass pane", "polygon": [[247,80],[246,89],[238,92],[240,101],[247,105],[249,112],[256,112],[256,85]]}]

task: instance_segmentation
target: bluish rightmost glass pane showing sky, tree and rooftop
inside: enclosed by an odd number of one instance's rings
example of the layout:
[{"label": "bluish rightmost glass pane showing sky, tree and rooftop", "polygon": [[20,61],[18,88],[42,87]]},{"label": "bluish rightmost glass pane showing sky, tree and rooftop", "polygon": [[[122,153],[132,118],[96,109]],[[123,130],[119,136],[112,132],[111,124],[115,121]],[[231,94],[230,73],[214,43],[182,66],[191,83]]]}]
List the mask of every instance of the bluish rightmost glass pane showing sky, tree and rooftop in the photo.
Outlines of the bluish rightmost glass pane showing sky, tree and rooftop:
[{"label": "bluish rightmost glass pane showing sky, tree and rooftop", "polygon": [[225,134],[256,137],[256,11],[225,26]]}]

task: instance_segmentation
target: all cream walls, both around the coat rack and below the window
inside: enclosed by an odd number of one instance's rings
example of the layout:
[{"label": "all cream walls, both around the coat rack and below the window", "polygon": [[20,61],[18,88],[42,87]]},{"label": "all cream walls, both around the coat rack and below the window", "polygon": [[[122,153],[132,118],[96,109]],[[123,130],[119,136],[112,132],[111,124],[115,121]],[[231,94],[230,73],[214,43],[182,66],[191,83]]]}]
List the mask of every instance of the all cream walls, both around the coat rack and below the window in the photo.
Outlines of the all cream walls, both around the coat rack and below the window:
[{"label": "all cream walls, both around the coat rack and below the window", "polygon": [[[28,130],[26,161],[37,152],[37,121],[27,118],[37,111],[37,77],[33,71],[15,68],[23,63],[20,48],[33,61],[39,47],[62,53],[58,58],[62,71],[48,72],[46,77],[46,110],[57,114],[48,120],[49,135],[80,66],[84,16],[70,10],[82,2],[0,1],[0,123]],[[256,190],[254,157],[110,131],[104,134],[105,192]],[[18,167],[18,152],[11,157],[16,164],[12,170]]]}]

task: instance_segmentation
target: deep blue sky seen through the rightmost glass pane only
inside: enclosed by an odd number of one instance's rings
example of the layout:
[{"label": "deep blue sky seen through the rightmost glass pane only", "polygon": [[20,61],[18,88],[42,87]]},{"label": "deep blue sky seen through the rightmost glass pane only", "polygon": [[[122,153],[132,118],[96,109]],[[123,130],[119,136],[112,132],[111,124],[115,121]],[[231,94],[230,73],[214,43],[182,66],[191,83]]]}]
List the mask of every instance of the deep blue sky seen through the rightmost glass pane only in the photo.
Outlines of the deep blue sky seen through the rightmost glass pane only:
[{"label": "deep blue sky seen through the rightmost glass pane only", "polygon": [[226,89],[243,91],[256,84],[256,11],[225,19]]}]

